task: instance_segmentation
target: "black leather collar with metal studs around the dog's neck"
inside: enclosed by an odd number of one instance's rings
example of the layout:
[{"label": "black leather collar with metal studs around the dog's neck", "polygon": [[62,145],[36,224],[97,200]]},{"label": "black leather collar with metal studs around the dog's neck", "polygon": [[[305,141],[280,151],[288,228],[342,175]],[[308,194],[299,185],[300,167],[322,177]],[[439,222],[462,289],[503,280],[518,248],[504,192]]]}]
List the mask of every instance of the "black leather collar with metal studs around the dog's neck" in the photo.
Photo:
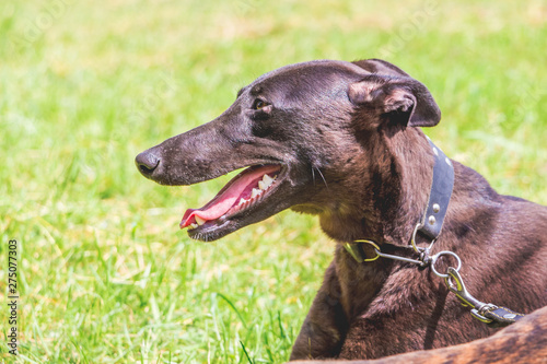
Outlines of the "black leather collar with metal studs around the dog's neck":
[{"label": "black leather collar with metal studs around the dog's neck", "polygon": [[[422,234],[430,243],[434,242],[444,223],[444,216],[449,210],[449,203],[454,188],[454,166],[451,160],[428,138],[429,145],[433,151],[435,163],[433,165],[433,178],[429,192],[426,211],[416,227],[416,232]],[[375,258],[366,259],[362,243],[346,243],[344,247],[358,262],[371,261]]]}]

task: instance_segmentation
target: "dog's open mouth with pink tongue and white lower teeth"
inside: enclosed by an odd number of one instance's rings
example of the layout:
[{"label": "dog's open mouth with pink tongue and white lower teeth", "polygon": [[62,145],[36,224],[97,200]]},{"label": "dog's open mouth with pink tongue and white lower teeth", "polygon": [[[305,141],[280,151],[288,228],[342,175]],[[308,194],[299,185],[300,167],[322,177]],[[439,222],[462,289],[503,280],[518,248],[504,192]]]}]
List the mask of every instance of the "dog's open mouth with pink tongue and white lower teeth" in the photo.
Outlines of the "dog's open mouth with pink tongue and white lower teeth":
[{"label": "dog's open mouth with pink tongue and white lower teeth", "polygon": [[280,165],[251,166],[235,176],[201,209],[188,209],[181,228],[188,228],[190,237],[237,214],[257,207],[278,186]]}]

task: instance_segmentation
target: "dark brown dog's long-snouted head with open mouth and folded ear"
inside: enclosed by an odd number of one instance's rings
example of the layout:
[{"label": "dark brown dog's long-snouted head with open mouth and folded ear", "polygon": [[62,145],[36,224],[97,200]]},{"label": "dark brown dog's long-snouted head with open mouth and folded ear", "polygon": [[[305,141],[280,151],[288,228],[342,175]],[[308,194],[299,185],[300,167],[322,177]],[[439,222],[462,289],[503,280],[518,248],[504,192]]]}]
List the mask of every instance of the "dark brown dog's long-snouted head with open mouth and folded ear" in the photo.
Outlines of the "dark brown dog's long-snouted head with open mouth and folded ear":
[{"label": "dark brown dog's long-snouted head with open mouth and folded ear", "polygon": [[218,118],[136,163],[144,177],[170,186],[245,168],[183,218],[190,237],[214,240],[288,208],[321,214],[322,222],[351,216],[375,193],[366,189],[382,164],[374,160],[377,136],[431,127],[440,117],[426,86],[393,64],[310,61],[259,77]]}]

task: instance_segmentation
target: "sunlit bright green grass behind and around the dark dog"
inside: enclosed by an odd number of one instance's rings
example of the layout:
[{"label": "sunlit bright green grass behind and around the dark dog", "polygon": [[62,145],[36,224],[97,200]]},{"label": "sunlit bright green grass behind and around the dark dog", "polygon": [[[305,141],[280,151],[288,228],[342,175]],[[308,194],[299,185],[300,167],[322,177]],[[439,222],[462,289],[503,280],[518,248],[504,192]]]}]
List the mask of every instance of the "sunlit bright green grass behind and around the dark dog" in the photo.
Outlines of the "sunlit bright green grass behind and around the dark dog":
[{"label": "sunlit bright green grass behind and around the dark dog", "polygon": [[[19,242],[20,362],[288,360],[334,243],[283,212],[218,243],[177,223],[140,151],[287,63],[382,57],[443,111],[427,130],[500,192],[547,203],[542,1],[27,0],[0,5],[0,340]],[[223,181],[226,179],[224,178]],[[13,360],[0,345],[0,361]]]}]

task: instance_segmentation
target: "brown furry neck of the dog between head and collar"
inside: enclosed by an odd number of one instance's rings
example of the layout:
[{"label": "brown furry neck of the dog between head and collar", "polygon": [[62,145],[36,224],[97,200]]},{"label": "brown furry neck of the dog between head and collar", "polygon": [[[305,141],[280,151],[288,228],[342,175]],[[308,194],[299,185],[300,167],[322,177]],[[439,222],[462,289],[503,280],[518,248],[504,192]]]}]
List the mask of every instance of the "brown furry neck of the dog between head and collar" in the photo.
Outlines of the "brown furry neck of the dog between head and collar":
[{"label": "brown furry neck of the dog between head and collar", "polygon": [[433,152],[417,128],[380,130],[362,138],[356,164],[364,167],[354,167],[362,181],[360,195],[350,196],[345,209],[321,214],[322,228],[340,243],[371,239],[406,246],[428,204]]}]

